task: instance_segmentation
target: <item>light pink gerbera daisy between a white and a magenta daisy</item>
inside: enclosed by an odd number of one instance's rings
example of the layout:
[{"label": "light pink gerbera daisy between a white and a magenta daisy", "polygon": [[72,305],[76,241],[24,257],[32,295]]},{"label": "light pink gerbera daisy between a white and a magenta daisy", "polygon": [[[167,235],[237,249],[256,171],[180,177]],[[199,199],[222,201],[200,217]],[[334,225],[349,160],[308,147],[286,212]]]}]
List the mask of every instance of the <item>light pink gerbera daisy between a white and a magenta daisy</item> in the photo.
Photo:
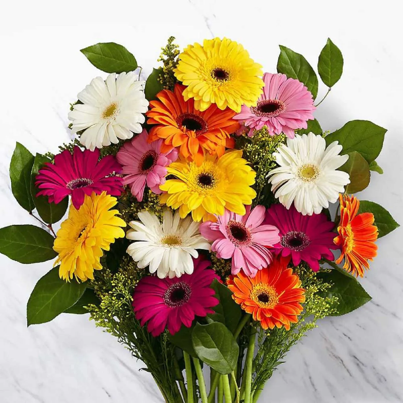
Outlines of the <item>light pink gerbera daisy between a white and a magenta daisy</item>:
[{"label": "light pink gerbera daisy between a white and a magenta daisy", "polygon": [[272,247],[280,241],[278,229],[273,225],[260,225],[266,209],[256,206],[252,211],[246,206],[246,214],[241,216],[225,210],[216,222],[206,221],[200,225],[200,233],[212,243],[212,251],[217,258],[231,259],[231,272],[239,270],[254,277],[258,270],[267,267],[272,261]]}]

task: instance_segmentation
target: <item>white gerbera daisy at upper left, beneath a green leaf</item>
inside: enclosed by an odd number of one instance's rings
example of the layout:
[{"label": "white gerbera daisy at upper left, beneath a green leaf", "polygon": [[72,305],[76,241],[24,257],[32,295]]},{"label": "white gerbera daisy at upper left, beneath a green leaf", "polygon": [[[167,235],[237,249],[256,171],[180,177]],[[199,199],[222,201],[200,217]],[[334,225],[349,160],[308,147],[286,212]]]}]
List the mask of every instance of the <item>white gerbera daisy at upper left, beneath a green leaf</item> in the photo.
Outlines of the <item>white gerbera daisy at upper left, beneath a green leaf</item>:
[{"label": "white gerbera daisy at upper left, beneath a green leaf", "polygon": [[102,148],[118,139],[130,139],[133,133],[141,133],[147,112],[143,85],[131,71],[108,75],[106,81],[94,78],[78,94],[82,104],[75,104],[69,113],[73,121],[73,134],[84,130],[80,142],[89,150]]}]

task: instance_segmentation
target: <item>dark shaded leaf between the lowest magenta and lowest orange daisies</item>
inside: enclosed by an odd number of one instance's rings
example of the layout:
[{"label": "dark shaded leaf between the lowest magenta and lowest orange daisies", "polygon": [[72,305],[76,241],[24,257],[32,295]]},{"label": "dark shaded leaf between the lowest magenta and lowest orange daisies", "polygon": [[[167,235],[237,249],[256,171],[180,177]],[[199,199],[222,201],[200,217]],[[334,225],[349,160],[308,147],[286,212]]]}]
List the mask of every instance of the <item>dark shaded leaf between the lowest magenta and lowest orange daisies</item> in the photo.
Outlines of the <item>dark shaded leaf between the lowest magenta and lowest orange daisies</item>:
[{"label": "dark shaded leaf between the lowest magenta and lowest orange daisies", "polygon": [[224,284],[218,282],[218,280],[215,279],[213,281],[211,288],[216,291],[214,297],[216,297],[220,303],[212,308],[215,313],[208,314],[207,317],[214,322],[221,322],[231,333],[234,333],[239,320],[241,320],[241,306],[234,301],[231,290],[225,287]]}]

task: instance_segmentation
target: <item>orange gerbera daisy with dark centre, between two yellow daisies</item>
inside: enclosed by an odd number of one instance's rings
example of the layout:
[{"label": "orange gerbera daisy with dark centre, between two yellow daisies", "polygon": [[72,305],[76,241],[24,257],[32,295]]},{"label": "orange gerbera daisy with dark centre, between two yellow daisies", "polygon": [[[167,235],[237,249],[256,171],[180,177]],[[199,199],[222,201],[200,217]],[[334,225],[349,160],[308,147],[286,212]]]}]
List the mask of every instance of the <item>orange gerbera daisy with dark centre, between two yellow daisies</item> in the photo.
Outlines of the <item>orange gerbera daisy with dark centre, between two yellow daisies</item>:
[{"label": "orange gerbera daisy with dark centre, between two yellow daisies", "polygon": [[157,94],[159,101],[150,102],[147,123],[156,126],[151,128],[148,141],[164,139],[162,152],[180,147],[180,154],[199,166],[203,149],[222,156],[225,148],[234,147],[230,134],[239,129],[239,124],[229,108],[220,110],[214,104],[203,112],[196,110],[193,98],[184,100],[184,89],[185,86],[175,84],[174,92],[163,89]]}]

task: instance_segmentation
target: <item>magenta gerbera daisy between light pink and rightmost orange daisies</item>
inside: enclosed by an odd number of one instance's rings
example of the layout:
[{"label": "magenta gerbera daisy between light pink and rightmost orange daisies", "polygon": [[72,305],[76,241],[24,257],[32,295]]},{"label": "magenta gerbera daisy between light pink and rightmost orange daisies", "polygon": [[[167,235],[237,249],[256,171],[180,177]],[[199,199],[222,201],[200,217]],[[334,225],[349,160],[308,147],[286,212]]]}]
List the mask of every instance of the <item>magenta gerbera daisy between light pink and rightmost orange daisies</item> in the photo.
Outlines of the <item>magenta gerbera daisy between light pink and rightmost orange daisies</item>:
[{"label": "magenta gerbera daisy between light pink and rightmost orange daisies", "polygon": [[303,216],[294,205],[287,210],[282,204],[274,204],[268,208],[264,222],[278,227],[280,242],[274,245],[274,251],[283,256],[291,254],[294,266],[304,260],[317,272],[320,259],[334,259],[330,251],[338,249],[333,243],[334,222],[326,214]]}]

